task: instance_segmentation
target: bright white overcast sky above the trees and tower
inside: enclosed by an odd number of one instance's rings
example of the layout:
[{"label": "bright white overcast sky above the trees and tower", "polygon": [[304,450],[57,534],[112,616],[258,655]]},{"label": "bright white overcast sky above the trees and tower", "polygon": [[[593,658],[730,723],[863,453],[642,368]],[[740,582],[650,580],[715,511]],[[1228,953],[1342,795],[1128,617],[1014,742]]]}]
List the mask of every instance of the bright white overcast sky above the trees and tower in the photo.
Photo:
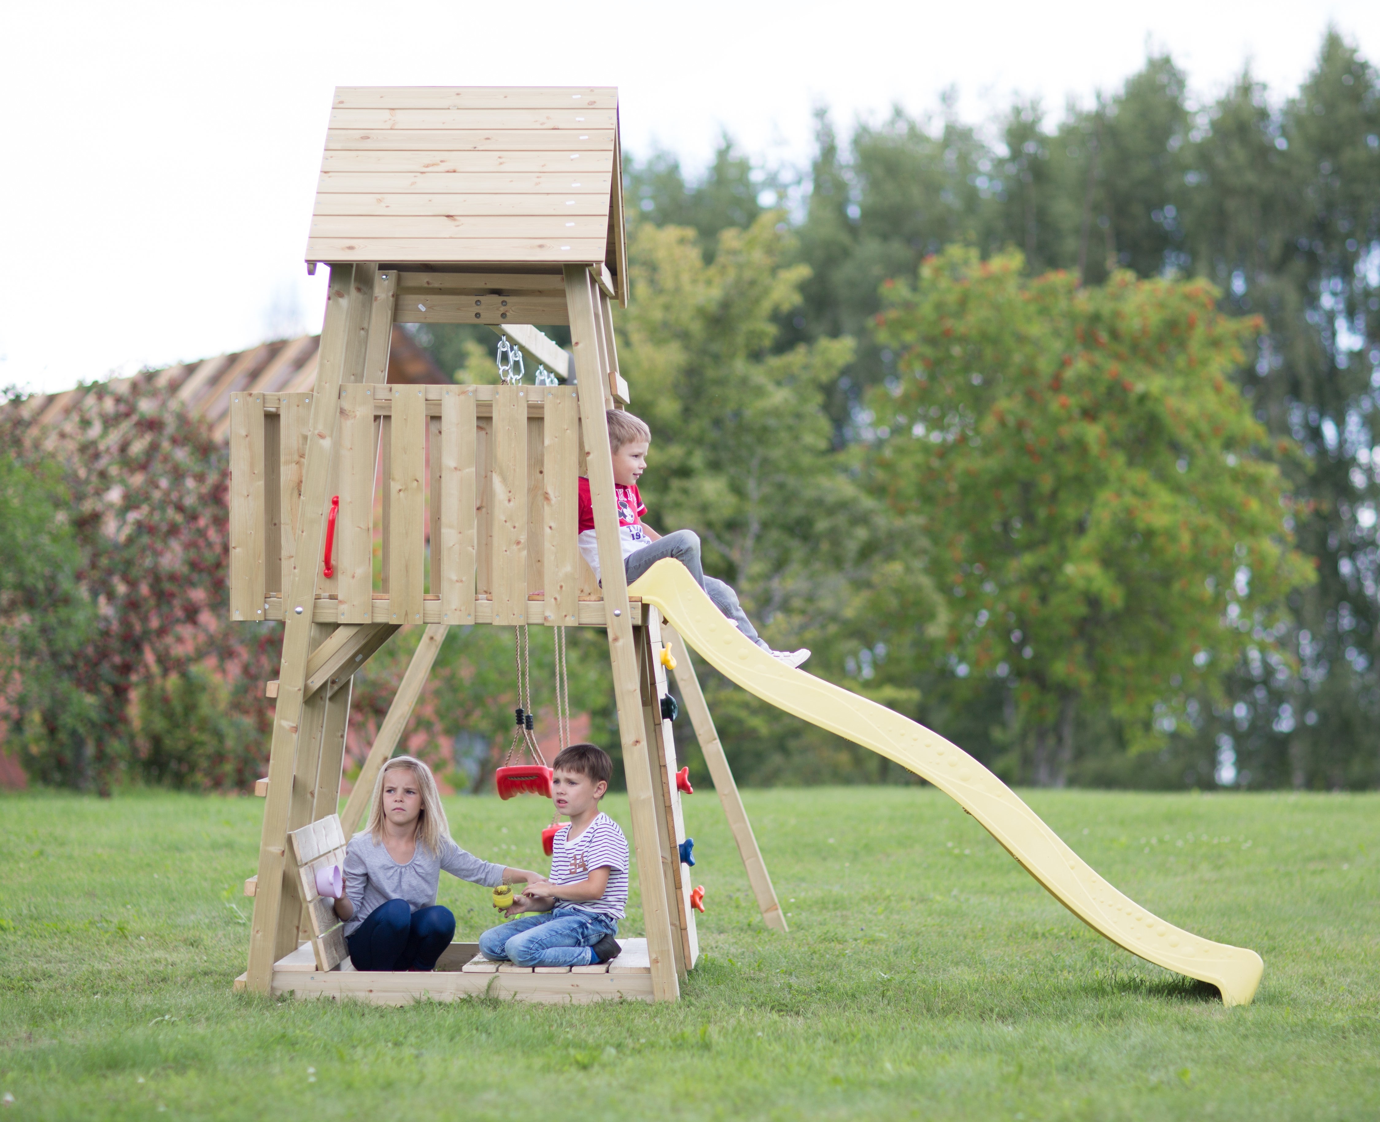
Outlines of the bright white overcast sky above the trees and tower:
[{"label": "bright white overcast sky above the trees and tower", "polygon": [[1275,95],[1328,23],[1380,62],[1380,4],[126,0],[6,7],[0,36],[0,385],[54,391],[316,331],[302,265],[337,84],[620,87],[624,146],[697,167],[727,128],[800,163],[845,128],[959,91],[1060,112],[1114,90],[1147,44],[1195,92],[1245,62]]}]

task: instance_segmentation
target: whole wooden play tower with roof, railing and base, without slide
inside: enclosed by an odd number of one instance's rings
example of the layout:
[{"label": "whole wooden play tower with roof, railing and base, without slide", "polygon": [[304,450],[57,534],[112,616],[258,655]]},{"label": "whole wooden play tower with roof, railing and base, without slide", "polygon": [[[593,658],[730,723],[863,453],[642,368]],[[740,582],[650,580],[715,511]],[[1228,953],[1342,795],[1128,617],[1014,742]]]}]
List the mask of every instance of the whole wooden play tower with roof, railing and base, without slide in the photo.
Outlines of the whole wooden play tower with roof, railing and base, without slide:
[{"label": "whole wooden play tower with roof, railing and base, without slide", "polygon": [[[763,919],[785,922],[689,653],[676,642],[664,657],[669,628],[624,580],[604,418],[629,400],[611,316],[628,301],[617,90],[337,90],[306,258],[330,268],[315,388],[230,395],[230,617],[284,624],[240,984],[379,1002],[673,1001],[698,948],[668,669]],[[487,324],[560,384],[388,385],[395,323]],[[569,324],[570,352],[538,330],[549,324]],[[581,475],[602,588],[577,545]],[[312,868],[339,861],[363,824],[458,624],[607,631],[644,952],[629,940],[603,969],[533,972],[457,943],[432,974],[349,969]],[[402,627],[425,633],[337,818],[352,675]]]}]

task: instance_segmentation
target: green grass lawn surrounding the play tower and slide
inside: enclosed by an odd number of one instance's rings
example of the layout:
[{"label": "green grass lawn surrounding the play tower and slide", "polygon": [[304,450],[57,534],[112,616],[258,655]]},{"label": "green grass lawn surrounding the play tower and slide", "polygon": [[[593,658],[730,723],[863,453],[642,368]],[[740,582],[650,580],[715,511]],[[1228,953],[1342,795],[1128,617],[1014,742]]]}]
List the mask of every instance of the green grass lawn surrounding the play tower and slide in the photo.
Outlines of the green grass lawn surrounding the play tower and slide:
[{"label": "green grass lawn surrounding the play tower and slide", "polygon": [[[0,1116],[1380,1114],[1380,796],[1027,798],[1145,907],[1257,949],[1254,1005],[1104,941],[933,788],[745,794],[789,936],[713,794],[689,799],[708,915],[683,1001],[577,1007],[232,994],[261,800],[4,796]],[[447,811],[475,853],[538,861],[544,803]],[[457,937],[487,894],[442,879]]]}]

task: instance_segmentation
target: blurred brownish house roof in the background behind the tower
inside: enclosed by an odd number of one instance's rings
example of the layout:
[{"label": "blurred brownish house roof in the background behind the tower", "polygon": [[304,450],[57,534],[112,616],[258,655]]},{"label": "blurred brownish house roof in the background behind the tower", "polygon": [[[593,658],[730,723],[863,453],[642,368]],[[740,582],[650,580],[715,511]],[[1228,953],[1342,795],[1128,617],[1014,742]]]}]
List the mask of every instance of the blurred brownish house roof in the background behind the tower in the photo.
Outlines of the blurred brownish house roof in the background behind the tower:
[{"label": "blurred brownish house roof in the background behind the tower", "polygon": [[[145,371],[141,377],[175,389],[178,399],[192,413],[204,417],[211,425],[211,435],[224,442],[230,425],[230,392],[305,393],[316,385],[320,341],[320,335],[299,335],[264,342],[248,351]],[[395,327],[388,352],[388,381],[391,385],[432,385],[450,380],[431,355],[403,328]],[[112,378],[109,384],[123,392],[135,385],[135,378]],[[57,428],[81,415],[81,402],[90,389],[79,386],[62,393],[34,395],[22,407],[37,424]]]}]

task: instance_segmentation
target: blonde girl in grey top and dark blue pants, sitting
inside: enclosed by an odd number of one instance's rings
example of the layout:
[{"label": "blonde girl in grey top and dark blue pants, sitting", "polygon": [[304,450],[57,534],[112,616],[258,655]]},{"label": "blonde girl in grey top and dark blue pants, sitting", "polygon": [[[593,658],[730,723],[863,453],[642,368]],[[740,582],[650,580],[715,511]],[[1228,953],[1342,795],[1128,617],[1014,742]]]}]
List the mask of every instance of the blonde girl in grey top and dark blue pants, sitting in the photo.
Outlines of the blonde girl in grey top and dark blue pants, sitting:
[{"label": "blonde girl in grey top and dark blue pants, sitting", "polygon": [[349,839],[345,894],[335,901],[356,970],[435,967],[455,934],[455,916],[436,903],[442,869],[489,887],[541,879],[457,846],[431,769],[395,756],[374,783],[368,827]]}]

